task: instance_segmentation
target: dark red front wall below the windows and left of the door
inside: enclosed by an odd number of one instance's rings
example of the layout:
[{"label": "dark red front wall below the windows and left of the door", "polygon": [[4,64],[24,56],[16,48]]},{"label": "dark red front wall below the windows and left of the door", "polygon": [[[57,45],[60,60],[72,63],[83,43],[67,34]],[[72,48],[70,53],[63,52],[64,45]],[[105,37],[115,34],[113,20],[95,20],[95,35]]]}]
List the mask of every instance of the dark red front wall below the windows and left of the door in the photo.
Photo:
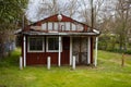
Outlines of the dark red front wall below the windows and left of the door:
[{"label": "dark red front wall below the windows and left of the door", "polygon": [[[27,41],[26,41],[27,46]],[[47,58],[51,58],[51,64],[58,64],[58,52],[27,52],[26,48],[26,64],[47,64]],[[70,59],[70,38],[62,38],[61,64],[69,64]]]}]

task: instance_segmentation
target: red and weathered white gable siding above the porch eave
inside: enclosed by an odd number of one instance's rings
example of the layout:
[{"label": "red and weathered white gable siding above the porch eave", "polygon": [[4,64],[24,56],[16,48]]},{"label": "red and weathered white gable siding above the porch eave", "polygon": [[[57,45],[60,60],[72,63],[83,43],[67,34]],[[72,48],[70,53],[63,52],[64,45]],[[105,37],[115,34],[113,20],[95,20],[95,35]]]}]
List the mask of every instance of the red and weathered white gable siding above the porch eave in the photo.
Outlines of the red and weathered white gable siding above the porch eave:
[{"label": "red and weathered white gable siding above the porch eave", "polygon": [[[27,30],[31,30],[31,29],[33,29],[33,30],[40,30],[40,32],[45,32],[45,33],[55,30],[55,27],[53,27],[55,24],[52,24],[51,30],[48,29],[48,27],[45,28],[45,29],[41,29],[41,25],[45,24],[45,23],[59,23],[59,24],[61,24],[61,23],[70,23],[69,24],[71,26],[70,28],[63,28],[63,27],[66,27],[66,24],[64,24],[64,26],[63,25],[59,26],[57,32],[66,32],[66,33],[67,32],[73,32],[73,33],[78,33],[78,32],[87,32],[87,29],[88,29],[87,25],[85,25],[83,23],[80,23],[80,22],[78,22],[78,21],[75,21],[75,20],[73,20],[71,17],[62,15],[62,20],[59,22],[57,16],[58,16],[58,14],[49,16],[49,17],[47,17],[45,20],[38,21],[38,22],[34,23],[34,24],[31,24],[31,25],[28,25],[28,26],[26,26],[24,28],[24,32],[27,32]],[[76,25],[75,29],[72,29],[72,25],[73,24]],[[81,26],[83,27],[83,29],[81,29]]]}]

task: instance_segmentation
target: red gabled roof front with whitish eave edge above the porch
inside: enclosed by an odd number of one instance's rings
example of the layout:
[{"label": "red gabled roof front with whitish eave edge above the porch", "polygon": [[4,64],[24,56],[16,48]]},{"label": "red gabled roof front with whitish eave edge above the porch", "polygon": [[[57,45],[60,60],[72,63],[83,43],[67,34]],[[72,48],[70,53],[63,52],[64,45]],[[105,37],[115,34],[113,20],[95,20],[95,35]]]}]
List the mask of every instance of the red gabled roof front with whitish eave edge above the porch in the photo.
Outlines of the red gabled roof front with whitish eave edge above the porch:
[{"label": "red gabled roof front with whitish eave edge above the porch", "polygon": [[[25,26],[25,28],[22,30],[21,34],[24,35],[99,35],[99,32],[96,29],[91,30],[91,27],[84,23],[78,22],[69,16],[66,16],[63,14],[61,14],[62,20],[58,21],[58,15],[59,14],[55,14],[51,15],[49,17],[46,17],[41,21],[38,21],[36,23],[33,23],[31,25]],[[44,23],[49,23],[49,22],[70,22],[73,24],[80,24],[83,27],[83,30],[57,30],[57,32],[52,32],[52,30],[43,30],[43,29],[34,29],[32,27],[41,27],[41,24]]]}]

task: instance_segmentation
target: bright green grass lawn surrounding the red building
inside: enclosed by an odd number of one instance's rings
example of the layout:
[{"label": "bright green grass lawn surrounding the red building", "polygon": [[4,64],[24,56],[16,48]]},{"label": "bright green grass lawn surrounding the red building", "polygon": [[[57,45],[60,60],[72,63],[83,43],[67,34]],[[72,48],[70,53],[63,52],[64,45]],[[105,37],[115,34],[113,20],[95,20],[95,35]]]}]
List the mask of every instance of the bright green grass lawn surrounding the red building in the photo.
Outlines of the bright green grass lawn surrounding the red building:
[{"label": "bright green grass lawn surrounding the red building", "polygon": [[98,65],[27,66],[19,70],[20,49],[0,61],[0,87],[131,87],[131,55],[124,55],[121,67],[119,53],[98,51]]}]

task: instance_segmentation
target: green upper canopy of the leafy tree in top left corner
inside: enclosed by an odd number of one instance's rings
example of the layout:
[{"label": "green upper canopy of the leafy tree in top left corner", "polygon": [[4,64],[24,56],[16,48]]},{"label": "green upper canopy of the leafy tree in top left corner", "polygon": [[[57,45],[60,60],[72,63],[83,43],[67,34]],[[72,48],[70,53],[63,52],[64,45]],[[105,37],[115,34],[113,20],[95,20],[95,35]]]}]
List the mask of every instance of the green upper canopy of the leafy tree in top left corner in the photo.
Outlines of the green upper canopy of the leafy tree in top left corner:
[{"label": "green upper canopy of the leafy tree in top left corner", "polygon": [[0,0],[0,25],[16,22],[26,8],[27,0]]}]

